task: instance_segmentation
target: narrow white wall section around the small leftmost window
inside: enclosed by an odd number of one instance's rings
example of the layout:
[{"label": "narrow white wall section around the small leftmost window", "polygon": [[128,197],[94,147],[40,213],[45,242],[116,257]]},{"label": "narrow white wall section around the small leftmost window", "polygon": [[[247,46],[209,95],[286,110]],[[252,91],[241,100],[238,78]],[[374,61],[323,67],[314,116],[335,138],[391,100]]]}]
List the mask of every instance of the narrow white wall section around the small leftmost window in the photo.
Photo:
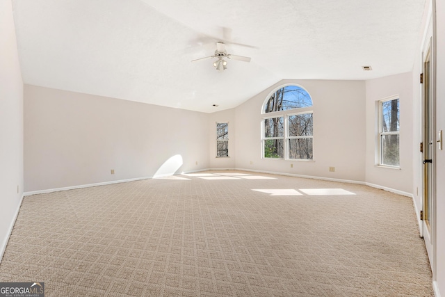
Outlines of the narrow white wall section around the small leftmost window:
[{"label": "narrow white wall section around the small leftmost window", "polygon": [[[229,123],[229,157],[216,158],[216,123]],[[209,114],[209,166],[210,168],[234,168],[236,160],[235,150],[235,109],[226,109]]]}]

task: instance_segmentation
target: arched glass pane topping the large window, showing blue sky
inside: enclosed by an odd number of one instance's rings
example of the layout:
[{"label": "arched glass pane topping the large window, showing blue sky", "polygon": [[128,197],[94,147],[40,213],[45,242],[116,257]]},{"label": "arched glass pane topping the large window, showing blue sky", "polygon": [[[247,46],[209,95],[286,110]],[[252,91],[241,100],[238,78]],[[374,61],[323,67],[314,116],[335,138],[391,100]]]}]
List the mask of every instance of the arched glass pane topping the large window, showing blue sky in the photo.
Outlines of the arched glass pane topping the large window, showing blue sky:
[{"label": "arched glass pane topping the large window, showing blue sky", "polygon": [[307,106],[312,106],[312,99],[307,90],[299,86],[285,86],[270,96],[264,106],[264,112],[287,111]]}]

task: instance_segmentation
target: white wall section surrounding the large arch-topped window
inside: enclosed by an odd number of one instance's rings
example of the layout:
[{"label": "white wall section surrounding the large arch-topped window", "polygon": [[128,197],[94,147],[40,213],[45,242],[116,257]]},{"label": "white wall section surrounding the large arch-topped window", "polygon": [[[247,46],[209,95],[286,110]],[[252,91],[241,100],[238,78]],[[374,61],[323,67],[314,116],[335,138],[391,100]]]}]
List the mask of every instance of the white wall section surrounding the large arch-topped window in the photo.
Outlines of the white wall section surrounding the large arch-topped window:
[{"label": "white wall section surrounding the large arch-topped window", "polygon": [[[314,161],[261,158],[261,108],[270,92],[285,83],[304,87],[312,97]],[[235,111],[236,168],[364,182],[364,81],[283,80]],[[331,166],[335,172],[329,172]]]}]

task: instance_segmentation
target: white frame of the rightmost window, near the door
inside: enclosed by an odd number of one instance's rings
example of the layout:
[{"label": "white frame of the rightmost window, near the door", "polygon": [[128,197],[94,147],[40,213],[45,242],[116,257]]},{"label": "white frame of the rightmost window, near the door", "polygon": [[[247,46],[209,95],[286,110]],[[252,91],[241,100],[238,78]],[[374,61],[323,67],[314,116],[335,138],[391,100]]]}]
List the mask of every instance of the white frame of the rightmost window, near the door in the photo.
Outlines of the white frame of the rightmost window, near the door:
[{"label": "white frame of the rightmost window, near the door", "polygon": [[[383,131],[383,104],[385,102],[389,102],[392,100],[398,100],[398,131]],[[375,152],[375,160],[376,160],[376,166],[380,167],[387,167],[387,168],[394,168],[394,169],[400,169],[401,168],[401,125],[400,125],[400,116],[401,116],[401,99],[399,95],[394,95],[391,97],[386,97],[385,99],[380,99],[377,102],[378,107],[378,131],[377,131],[377,150]],[[383,136],[388,135],[398,135],[398,165],[391,165],[383,163]]]}]

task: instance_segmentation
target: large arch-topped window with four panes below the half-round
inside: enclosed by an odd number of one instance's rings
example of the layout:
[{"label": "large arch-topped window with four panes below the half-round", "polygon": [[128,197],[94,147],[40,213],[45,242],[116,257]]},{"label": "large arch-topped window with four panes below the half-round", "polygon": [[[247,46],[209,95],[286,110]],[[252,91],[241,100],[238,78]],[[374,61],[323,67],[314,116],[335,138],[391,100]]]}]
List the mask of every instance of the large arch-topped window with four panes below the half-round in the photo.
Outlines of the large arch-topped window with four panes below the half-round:
[{"label": "large arch-topped window with four panes below the half-round", "polygon": [[313,159],[311,106],[311,96],[300,86],[283,86],[268,97],[263,113],[269,114],[262,121],[264,158]]}]

